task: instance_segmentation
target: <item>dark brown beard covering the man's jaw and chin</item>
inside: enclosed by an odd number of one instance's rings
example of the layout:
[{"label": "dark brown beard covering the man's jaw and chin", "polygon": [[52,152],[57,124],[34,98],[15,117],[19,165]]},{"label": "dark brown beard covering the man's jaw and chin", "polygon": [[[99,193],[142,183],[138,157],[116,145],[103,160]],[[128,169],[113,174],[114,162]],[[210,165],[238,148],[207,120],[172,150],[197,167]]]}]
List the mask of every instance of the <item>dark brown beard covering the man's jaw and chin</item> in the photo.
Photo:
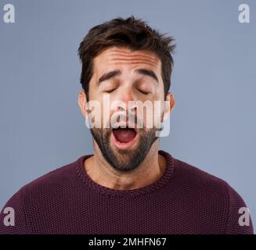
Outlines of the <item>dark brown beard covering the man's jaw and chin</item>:
[{"label": "dark brown beard covering the man's jaw and chin", "polygon": [[138,130],[138,141],[135,148],[122,150],[120,148],[112,148],[110,136],[111,128],[91,128],[94,140],[99,146],[103,157],[115,170],[128,172],[135,170],[139,164],[145,159],[150,151],[153,142],[157,140],[157,128],[150,129],[141,128]]}]

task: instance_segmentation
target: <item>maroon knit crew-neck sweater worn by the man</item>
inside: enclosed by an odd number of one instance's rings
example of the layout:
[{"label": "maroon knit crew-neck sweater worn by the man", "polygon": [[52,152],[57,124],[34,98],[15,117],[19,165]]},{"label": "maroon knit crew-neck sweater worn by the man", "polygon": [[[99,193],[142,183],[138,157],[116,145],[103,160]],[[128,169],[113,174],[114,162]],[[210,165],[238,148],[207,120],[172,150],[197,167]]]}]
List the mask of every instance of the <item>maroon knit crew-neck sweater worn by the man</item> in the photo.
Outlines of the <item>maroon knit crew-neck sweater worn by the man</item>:
[{"label": "maroon knit crew-neck sweater worn by the man", "polygon": [[45,174],[9,199],[15,226],[4,225],[2,210],[0,234],[253,234],[251,219],[239,224],[246,205],[229,184],[159,153],[164,175],[133,190],[94,182],[83,164],[91,155]]}]

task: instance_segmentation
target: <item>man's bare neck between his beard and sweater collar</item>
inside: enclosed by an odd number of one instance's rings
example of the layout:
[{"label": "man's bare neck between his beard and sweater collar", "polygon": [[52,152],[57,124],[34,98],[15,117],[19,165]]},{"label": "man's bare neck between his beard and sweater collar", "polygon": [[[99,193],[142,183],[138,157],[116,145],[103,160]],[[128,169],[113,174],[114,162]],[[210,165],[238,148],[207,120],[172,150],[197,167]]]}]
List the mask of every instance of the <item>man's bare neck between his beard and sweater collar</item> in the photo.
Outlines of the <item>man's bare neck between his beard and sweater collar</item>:
[{"label": "man's bare neck between his beard and sweater collar", "polygon": [[162,177],[166,168],[164,156],[158,154],[159,139],[155,141],[143,162],[131,172],[115,170],[94,143],[94,155],[85,160],[88,176],[104,187],[117,190],[132,190],[153,184]]}]

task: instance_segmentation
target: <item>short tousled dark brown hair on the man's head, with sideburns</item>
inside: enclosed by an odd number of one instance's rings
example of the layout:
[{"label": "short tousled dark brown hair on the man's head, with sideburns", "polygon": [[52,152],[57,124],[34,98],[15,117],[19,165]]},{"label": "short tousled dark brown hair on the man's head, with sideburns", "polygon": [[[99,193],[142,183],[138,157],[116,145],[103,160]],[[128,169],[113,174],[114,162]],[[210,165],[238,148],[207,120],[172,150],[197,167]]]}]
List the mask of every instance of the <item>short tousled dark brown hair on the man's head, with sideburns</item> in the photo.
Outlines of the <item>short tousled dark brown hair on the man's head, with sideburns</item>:
[{"label": "short tousled dark brown hair on the man's head, with sideburns", "polygon": [[171,85],[171,70],[173,59],[171,53],[175,49],[173,37],[167,37],[153,30],[144,21],[130,16],[121,17],[92,27],[88,31],[78,49],[81,59],[81,85],[88,100],[89,81],[93,73],[93,59],[104,48],[112,46],[127,47],[131,50],[146,50],[159,56],[162,64],[162,78],[164,82],[164,98]]}]

